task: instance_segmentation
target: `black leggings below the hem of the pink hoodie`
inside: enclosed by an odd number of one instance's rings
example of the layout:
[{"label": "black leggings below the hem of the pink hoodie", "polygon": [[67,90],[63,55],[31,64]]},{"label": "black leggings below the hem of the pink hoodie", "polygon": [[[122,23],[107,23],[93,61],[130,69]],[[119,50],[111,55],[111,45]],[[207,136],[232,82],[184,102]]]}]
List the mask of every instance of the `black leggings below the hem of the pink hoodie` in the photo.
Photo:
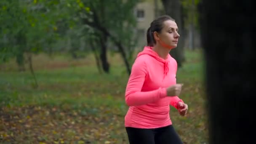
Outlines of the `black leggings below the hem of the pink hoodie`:
[{"label": "black leggings below the hem of the pink hoodie", "polygon": [[183,144],[172,125],[162,128],[126,127],[130,144]]}]

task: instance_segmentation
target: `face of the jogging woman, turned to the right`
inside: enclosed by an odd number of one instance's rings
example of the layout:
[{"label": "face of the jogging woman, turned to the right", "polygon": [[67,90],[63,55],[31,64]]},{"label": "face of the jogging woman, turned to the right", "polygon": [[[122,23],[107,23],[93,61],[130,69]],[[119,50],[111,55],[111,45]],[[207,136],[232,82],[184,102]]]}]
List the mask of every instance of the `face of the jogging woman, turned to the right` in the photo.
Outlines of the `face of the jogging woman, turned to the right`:
[{"label": "face of the jogging woman, turned to the right", "polygon": [[163,29],[156,37],[156,41],[163,47],[176,48],[179,40],[178,26],[175,21],[163,22]]}]

